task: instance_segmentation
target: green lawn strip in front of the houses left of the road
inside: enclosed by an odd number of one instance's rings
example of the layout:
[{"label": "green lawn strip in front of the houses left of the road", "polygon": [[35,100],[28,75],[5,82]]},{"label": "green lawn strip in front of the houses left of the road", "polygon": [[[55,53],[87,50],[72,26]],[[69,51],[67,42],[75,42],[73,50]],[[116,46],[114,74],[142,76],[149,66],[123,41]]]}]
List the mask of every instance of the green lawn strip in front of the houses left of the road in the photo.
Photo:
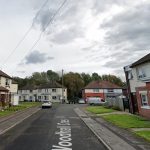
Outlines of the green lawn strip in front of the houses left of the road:
[{"label": "green lawn strip in front of the houses left of the road", "polygon": [[40,105],[41,102],[20,102],[18,106],[11,106],[10,108],[6,108],[4,111],[0,111],[0,117],[7,116],[17,111]]}]

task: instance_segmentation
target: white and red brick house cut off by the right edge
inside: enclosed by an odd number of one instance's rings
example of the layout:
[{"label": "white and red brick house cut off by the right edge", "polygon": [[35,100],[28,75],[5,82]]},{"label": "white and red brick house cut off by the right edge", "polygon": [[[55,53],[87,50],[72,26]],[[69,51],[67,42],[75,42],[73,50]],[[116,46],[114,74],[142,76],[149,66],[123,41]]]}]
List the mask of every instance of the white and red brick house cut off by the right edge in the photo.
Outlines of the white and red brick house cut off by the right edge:
[{"label": "white and red brick house cut off by the right edge", "polygon": [[130,112],[150,119],[150,54],[124,67]]}]

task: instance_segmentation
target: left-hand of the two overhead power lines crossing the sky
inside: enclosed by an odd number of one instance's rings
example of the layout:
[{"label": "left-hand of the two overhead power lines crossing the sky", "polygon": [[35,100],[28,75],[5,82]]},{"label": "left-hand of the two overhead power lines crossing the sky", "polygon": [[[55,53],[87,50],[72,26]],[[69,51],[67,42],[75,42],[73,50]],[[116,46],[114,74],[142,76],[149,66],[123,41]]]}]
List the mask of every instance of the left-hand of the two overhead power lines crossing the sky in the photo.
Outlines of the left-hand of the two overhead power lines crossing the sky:
[{"label": "left-hand of the two overhead power lines crossing the sky", "polygon": [[[36,19],[38,17],[38,15],[41,13],[42,9],[45,7],[45,5],[48,3],[49,0],[46,0],[44,2],[44,4],[41,6],[41,8],[39,9],[39,11],[36,13],[35,18]],[[21,38],[21,40],[17,43],[16,47],[11,51],[11,53],[7,56],[7,58],[3,61],[3,65],[5,65],[5,63],[8,61],[8,59],[13,55],[13,53],[17,50],[17,48],[21,45],[21,43],[24,41],[24,39],[26,38],[26,36],[29,34],[29,32],[31,31],[32,27],[34,25],[34,21],[32,22],[31,26],[29,27],[29,29],[25,32],[24,36]]]}]

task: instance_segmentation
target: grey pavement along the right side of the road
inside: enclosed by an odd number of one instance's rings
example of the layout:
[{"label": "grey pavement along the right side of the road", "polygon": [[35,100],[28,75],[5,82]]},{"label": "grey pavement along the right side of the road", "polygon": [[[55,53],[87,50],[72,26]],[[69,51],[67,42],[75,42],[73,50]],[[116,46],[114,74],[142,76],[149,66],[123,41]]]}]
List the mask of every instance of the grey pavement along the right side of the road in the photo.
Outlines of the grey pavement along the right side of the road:
[{"label": "grey pavement along the right side of the road", "polygon": [[115,127],[99,117],[89,116],[83,109],[75,112],[109,150],[149,150],[143,139],[135,138],[130,132]]}]

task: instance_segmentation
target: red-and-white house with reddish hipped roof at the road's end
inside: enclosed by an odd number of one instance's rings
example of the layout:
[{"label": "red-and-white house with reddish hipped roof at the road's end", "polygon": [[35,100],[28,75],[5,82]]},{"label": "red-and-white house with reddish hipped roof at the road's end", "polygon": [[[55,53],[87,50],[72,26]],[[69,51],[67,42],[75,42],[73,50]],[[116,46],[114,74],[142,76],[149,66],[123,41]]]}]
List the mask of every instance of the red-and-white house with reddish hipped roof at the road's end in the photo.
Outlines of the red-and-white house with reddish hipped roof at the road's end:
[{"label": "red-and-white house with reddish hipped roof at the road's end", "polygon": [[89,97],[106,99],[122,95],[122,88],[109,81],[92,81],[82,90],[82,97],[87,100]]}]

